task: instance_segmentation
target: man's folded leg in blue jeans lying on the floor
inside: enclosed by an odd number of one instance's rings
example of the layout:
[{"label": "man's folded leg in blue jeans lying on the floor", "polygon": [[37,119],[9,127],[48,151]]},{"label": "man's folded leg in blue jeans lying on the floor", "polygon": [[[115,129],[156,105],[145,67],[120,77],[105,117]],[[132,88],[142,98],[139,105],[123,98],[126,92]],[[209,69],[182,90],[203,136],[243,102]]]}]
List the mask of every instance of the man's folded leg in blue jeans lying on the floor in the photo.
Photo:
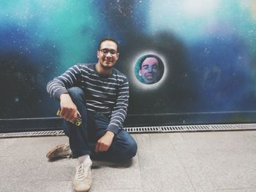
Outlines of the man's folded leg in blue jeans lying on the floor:
[{"label": "man's folded leg in blue jeans lying on the floor", "polygon": [[102,161],[127,161],[134,157],[137,153],[137,143],[127,131],[120,129],[118,134],[113,138],[113,142],[110,145],[107,152],[94,152],[97,139],[105,134],[105,130],[108,127],[109,119],[102,115],[95,115],[95,142],[90,144],[91,158]]}]

